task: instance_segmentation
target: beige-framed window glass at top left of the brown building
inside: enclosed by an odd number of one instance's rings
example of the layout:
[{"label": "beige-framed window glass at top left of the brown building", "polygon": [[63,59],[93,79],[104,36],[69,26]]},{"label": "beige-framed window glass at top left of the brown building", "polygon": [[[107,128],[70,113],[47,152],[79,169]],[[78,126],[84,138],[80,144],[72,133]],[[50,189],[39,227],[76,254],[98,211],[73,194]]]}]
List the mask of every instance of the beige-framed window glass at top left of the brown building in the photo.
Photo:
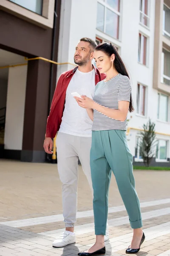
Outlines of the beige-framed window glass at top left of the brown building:
[{"label": "beige-framed window glass at top left of the brown building", "polygon": [[32,12],[42,15],[42,0],[9,0],[16,3]]}]

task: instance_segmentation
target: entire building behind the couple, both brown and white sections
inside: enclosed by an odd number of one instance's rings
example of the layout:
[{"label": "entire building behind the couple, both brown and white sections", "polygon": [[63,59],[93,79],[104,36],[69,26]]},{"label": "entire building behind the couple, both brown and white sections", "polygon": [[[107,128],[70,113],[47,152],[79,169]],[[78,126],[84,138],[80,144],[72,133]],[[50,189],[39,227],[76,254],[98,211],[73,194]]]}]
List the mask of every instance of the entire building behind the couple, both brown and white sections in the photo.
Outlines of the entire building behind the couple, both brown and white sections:
[{"label": "entire building behind the couple, both brown and white sections", "polygon": [[111,42],[130,74],[134,164],[143,164],[139,133],[150,118],[157,140],[151,165],[170,166],[170,0],[0,0],[0,157],[45,161],[56,77],[75,67],[82,37]]}]

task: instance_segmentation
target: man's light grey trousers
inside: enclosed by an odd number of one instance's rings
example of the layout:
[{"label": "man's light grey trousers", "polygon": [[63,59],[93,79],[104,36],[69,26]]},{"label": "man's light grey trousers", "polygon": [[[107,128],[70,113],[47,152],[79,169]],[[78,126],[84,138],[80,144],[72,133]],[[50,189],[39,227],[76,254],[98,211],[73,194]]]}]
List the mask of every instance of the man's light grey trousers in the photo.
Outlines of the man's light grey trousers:
[{"label": "man's light grey trousers", "polygon": [[91,137],[58,132],[56,146],[65,227],[74,227],[77,214],[78,158],[93,193],[90,168]]}]

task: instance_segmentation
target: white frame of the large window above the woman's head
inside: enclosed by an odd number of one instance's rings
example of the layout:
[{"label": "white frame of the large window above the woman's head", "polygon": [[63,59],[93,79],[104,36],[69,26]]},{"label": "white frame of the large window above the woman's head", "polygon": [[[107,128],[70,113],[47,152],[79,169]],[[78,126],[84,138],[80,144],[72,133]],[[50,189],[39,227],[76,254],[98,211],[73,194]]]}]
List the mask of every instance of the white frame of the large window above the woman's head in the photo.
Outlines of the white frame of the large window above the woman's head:
[{"label": "white frame of the large window above the woman's head", "polygon": [[[108,3],[104,0],[97,0],[97,4],[101,4],[102,6],[104,6],[104,29],[103,31],[98,29],[96,26],[96,29],[108,36],[110,36],[111,38],[115,38],[116,40],[120,40],[120,25],[121,25],[121,2],[122,0],[119,0],[119,12],[116,11],[115,9],[113,9],[111,6],[108,5]],[[115,13],[116,15],[119,16],[119,22],[118,22],[118,28],[117,28],[117,33],[118,33],[118,38],[113,37],[112,35],[109,35],[108,33],[106,33],[106,10],[109,9],[111,12]],[[96,24],[97,25],[97,24]]]}]

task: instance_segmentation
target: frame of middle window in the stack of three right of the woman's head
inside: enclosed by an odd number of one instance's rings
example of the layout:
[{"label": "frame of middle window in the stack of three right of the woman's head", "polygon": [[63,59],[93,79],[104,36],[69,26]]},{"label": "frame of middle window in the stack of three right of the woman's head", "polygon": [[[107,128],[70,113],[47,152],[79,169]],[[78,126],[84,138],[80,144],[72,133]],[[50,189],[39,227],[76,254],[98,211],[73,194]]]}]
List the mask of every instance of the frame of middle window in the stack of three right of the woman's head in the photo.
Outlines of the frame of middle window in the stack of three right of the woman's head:
[{"label": "frame of middle window in the stack of three right of the woman's head", "polygon": [[[141,40],[141,46],[140,46],[140,60],[139,60],[139,44],[140,44],[140,35],[141,35],[141,38],[142,37],[145,37],[146,38],[146,56],[145,56],[145,59],[146,59],[146,64],[144,64],[144,41]],[[148,67],[148,48],[149,48],[149,37],[147,35],[145,35],[144,33],[142,33],[141,31],[139,31],[139,34],[138,34],[138,63],[141,64],[141,65],[144,65],[145,67]],[[143,57],[142,57],[143,55]]]}]

